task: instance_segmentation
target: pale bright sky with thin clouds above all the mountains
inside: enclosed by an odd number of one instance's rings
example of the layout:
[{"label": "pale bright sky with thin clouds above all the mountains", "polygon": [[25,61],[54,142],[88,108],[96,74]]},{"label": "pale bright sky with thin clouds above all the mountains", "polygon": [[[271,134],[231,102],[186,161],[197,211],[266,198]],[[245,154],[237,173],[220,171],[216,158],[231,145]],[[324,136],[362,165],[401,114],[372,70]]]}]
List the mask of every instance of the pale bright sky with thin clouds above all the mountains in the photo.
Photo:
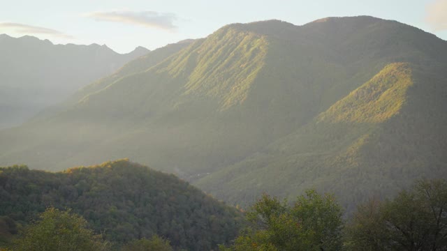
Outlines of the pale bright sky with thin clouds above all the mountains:
[{"label": "pale bright sky with thin clouds above all the mountains", "polygon": [[237,22],[302,25],[356,15],[397,20],[447,40],[447,0],[0,0],[0,6],[0,33],[105,44],[119,53],[204,38]]}]

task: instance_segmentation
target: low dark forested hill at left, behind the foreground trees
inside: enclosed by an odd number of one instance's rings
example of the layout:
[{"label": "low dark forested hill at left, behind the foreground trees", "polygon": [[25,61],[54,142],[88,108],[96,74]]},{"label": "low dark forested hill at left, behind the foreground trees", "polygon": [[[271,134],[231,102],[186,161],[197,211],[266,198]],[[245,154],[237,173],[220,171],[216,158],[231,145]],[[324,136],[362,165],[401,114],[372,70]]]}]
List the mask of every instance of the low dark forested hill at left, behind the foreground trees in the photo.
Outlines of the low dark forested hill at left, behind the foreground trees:
[{"label": "low dark forested hill at left, behind the foreground trees", "polygon": [[5,229],[15,234],[17,225],[48,206],[72,208],[117,246],[158,234],[175,250],[212,250],[233,240],[244,224],[235,208],[172,174],[127,160],[56,173],[2,167],[0,197],[0,241]]}]

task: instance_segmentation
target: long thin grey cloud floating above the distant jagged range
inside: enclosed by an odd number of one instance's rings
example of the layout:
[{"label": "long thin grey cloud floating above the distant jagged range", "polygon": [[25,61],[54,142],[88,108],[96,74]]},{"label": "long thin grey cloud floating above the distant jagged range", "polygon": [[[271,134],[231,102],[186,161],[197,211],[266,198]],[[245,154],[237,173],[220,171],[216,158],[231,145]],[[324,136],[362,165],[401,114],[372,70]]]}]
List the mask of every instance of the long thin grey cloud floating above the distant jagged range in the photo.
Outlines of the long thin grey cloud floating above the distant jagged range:
[{"label": "long thin grey cloud floating above the distant jagged range", "polygon": [[177,26],[173,24],[178,19],[177,15],[172,13],[158,13],[156,11],[108,11],[94,12],[86,14],[96,21],[121,22],[124,24],[136,24],[146,27],[165,29],[175,31]]}]

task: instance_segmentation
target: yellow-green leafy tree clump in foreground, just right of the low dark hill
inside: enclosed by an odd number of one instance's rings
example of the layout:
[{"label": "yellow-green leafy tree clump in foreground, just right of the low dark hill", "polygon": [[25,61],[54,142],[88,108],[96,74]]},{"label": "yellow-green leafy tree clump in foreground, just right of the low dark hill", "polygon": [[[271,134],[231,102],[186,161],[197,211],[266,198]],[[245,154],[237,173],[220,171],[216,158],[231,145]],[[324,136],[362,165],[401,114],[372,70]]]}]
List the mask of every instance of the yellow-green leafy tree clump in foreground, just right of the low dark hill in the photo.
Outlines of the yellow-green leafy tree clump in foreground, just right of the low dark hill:
[{"label": "yellow-green leafy tree clump in foreground, just right of the low dark hill", "polygon": [[339,250],[342,209],[330,195],[307,190],[293,206],[263,195],[247,213],[251,227],[222,250]]}]

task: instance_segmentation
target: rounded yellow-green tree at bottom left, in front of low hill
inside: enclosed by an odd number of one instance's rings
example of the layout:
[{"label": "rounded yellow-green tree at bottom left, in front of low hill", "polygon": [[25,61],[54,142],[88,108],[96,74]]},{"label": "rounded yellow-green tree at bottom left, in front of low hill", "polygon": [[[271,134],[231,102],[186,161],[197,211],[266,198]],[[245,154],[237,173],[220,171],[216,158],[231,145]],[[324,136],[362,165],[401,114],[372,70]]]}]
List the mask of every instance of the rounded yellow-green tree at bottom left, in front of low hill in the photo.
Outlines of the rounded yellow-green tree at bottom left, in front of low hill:
[{"label": "rounded yellow-green tree at bottom left, in front of low hill", "polygon": [[87,229],[84,218],[68,211],[47,208],[40,220],[24,228],[14,241],[13,250],[105,250],[101,236]]}]

